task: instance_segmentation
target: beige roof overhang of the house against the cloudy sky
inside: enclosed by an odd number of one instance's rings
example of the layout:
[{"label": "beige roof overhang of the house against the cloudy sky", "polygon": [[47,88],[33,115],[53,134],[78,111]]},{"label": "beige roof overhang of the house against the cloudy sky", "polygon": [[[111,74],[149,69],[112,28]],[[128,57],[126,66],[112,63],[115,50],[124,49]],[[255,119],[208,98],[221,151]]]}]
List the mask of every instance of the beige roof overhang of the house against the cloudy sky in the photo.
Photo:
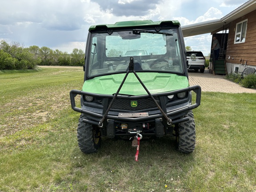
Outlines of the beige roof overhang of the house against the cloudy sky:
[{"label": "beige roof overhang of the house against the cloudy sky", "polygon": [[233,20],[236,20],[254,10],[256,10],[256,0],[249,0],[221,19],[182,26],[181,29],[183,36],[188,37],[205,33],[214,34],[216,32],[220,32],[224,28],[228,28],[229,23]]}]

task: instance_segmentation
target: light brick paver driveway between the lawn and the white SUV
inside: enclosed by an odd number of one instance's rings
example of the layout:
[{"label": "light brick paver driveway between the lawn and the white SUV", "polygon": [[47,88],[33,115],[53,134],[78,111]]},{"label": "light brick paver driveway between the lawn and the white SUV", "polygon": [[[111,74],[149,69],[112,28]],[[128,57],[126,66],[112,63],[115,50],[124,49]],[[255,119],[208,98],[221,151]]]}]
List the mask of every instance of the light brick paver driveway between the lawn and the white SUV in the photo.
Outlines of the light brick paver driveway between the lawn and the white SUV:
[{"label": "light brick paver driveway between the lawn and the white SUV", "polygon": [[225,76],[212,75],[209,70],[204,73],[189,71],[189,84],[200,85],[203,92],[228,92],[228,93],[256,93],[256,89],[249,89],[224,79]]}]

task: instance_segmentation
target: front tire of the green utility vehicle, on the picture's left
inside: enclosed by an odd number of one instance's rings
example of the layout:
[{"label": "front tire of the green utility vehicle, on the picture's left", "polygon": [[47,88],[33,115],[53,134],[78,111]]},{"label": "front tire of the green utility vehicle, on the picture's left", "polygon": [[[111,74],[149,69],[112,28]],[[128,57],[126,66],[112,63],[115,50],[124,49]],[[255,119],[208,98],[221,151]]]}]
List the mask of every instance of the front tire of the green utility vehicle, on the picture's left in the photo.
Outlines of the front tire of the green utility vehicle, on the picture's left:
[{"label": "front tire of the green utility vehicle, on the picture's left", "polygon": [[79,148],[84,153],[97,152],[101,144],[100,128],[96,125],[84,123],[84,118],[84,114],[81,114],[77,127]]}]

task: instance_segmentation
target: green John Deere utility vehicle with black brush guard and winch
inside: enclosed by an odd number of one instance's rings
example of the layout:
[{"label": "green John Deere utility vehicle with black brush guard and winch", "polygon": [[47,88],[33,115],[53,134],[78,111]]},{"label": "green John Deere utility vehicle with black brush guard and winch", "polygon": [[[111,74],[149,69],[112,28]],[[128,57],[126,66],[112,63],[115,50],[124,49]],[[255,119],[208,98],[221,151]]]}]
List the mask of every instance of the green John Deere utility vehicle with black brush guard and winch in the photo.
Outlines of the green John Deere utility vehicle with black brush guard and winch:
[{"label": "green John Deere utility vehicle with black brush guard and winch", "polygon": [[[125,54],[145,50],[147,54]],[[186,49],[176,20],[138,20],[89,28],[82,90],[71,90],[80,112],[77,138],[84,153],[97,152],[101,138],[176,136],[180,152],[195,148],[192,109],[200,86],[189,86]],[[196,97],[192,102],[192,91]],[[80,95],[81,108],[75,97]]]}]

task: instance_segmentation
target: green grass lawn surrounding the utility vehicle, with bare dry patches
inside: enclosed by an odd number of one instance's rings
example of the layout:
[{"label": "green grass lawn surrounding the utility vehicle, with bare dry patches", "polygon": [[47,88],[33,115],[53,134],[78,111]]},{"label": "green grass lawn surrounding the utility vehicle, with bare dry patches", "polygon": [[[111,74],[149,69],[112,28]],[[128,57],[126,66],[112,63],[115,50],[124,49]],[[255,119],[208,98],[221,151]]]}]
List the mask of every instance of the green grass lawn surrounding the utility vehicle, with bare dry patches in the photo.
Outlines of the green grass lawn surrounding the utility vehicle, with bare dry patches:
[{"label": "green grass lawn surrounding the utility vehicle, with bare dry patches", "polygon": [[195,151],[142,140],[136,162],[131,141],[80,152],[69,91],[83,78],[82,68],[0,72],[1,192],[256,191],[256,94],[202,92]]}]

